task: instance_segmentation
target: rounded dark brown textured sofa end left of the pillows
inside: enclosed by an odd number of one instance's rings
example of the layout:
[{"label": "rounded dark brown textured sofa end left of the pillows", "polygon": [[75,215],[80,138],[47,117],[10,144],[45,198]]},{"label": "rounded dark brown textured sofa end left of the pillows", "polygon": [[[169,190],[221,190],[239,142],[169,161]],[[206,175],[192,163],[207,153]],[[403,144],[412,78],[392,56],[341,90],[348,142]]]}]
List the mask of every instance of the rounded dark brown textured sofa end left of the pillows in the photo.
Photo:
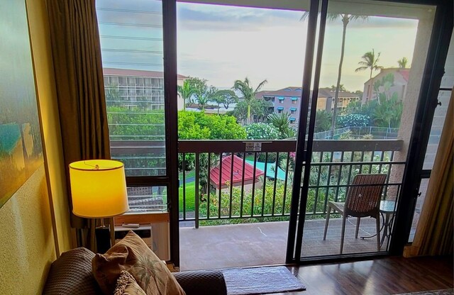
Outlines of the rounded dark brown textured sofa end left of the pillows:
[{"label": "rounded dark brown textured sofa end left of the pillows", "polygon": [[94,252],[79,247],[67,252],[52,262],[43,294],[100,294],[92,273]]}]

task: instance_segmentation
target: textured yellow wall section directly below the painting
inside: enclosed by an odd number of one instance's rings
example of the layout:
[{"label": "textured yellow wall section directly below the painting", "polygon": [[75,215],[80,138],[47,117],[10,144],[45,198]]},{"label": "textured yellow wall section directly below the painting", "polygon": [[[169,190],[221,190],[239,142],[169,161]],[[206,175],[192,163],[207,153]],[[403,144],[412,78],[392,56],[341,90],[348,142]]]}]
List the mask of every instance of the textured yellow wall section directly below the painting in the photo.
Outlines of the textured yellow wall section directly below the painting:
[{"label": "textured yellow wall section directly below the painting", "polygon": [[0,208],[0,294],[38,294],[55,260],[43,165]]}]

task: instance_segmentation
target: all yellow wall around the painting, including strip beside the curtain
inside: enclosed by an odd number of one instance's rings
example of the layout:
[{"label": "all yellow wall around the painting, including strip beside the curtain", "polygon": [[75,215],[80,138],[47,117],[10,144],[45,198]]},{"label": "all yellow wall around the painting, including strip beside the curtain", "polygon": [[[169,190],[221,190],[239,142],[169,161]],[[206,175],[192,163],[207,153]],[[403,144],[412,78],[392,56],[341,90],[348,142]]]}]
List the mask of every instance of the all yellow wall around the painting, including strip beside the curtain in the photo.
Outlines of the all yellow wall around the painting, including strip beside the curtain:
[{"label": "all yellow wall around the painting, including strip beside the curtain", "polygon": [[[22,0],[14,0],[20,1]],[[27,0],[45,165],[0,208],[0,294],[40,294],[72,246],[45,0]]]}]

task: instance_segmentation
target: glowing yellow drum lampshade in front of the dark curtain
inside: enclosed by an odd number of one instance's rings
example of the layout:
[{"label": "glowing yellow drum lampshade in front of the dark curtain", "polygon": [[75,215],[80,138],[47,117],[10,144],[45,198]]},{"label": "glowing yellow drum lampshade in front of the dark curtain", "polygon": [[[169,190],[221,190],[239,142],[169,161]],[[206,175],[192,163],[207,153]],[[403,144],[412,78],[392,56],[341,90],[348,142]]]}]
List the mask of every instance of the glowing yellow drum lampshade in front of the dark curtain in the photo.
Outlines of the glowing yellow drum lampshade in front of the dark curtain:
[{"label": "glowing yellow drum lampshade in front of the dark curtain", "polygon": [[128,211],[125,169],[114,160],[70,164],[72,213],[85,218],[112,217]]}]

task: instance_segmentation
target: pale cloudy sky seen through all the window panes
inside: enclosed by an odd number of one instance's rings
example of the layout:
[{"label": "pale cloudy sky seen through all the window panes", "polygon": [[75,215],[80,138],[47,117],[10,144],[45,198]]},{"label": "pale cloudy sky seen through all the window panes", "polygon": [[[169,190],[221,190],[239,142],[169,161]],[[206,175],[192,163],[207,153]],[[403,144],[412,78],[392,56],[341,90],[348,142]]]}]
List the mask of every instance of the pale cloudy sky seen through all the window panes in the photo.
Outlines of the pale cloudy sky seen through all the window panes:
[{"label": "pale cloudy sky seen through all the window panes", "polygon": [[[162,71],[160,5],[160,1],[145,0],[97,1],[104,67]],[[231,88],[236,79],[245,77],[253,85],[267,79],[264,89],[269,90],[299,87],[307,30],[307,21],[301,21],[303,13],[179,2],[178,73],[206,79],[220,89]],[[341,84],[350,91],[363,89],[370,72],[355,69],[362,55],[372,49],[380,52],[379,65],[383,67],[397,67],[402,57],[411,65],[417,26],[417,20],[378,16],[350,22]],[[341,37],[341,21],[329,22],[321,87],[336,84]]]}]

